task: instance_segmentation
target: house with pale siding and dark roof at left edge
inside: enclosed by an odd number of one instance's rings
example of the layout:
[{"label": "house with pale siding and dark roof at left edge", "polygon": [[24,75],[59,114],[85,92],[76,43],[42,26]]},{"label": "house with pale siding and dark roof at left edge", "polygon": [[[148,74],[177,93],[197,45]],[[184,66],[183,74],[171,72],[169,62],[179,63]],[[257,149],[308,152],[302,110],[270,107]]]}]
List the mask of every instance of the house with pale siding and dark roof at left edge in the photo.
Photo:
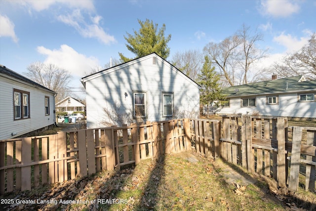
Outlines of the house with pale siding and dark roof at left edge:
[{"label": "house with pale siding and dark roof at left edge", "polygon": [[0,65],[0,140],[54,125],[55,95]]}]

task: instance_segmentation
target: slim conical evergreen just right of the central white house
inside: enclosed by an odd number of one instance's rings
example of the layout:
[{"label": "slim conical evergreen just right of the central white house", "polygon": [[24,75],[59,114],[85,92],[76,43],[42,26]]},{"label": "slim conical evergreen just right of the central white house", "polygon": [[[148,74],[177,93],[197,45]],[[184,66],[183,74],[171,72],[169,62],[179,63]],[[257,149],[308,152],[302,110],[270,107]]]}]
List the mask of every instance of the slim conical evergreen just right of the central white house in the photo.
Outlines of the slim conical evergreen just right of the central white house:
[{"label": "slim conical evergreen just right of the central white house", "polygon": [[203,105],[207,105],[207,111],[211,103],[219,106],[225,99],[224,94],[222,94],[222,88],[218,83],[219,80],[220,76],[215,72],[215,67],[212,67],[212,62],[208,56],[205,56],[201,73],[198,75],[198,83],[202,87],[200,102]]}]

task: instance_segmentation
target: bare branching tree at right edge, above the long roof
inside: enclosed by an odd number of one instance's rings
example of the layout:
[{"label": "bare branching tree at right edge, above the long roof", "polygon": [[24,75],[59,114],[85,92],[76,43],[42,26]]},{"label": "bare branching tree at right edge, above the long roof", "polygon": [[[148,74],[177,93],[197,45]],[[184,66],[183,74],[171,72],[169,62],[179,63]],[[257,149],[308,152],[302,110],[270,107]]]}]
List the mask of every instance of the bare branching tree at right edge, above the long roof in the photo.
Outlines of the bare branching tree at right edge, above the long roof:
[{"label": "bare branching tree at right edge, above the long roof", "polygon": [[300,50],[283,57],[281,63],[275,63],[273,70],[281,77],[305,75],[316,80],[316,33]]}]

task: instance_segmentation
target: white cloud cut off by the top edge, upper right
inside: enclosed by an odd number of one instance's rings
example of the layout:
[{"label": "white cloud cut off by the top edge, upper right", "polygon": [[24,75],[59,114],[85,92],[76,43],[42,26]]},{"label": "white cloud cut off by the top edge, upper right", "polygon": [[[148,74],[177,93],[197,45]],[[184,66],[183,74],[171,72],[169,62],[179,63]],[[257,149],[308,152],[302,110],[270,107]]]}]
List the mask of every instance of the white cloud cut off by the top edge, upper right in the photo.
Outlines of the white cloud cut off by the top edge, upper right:
[{"label": "white cloud cut off by the top edge, upper right", "polygon": [[260,11],[273,17],[288,17],[297,13],[300,6],[293,0],[261,0]]}]

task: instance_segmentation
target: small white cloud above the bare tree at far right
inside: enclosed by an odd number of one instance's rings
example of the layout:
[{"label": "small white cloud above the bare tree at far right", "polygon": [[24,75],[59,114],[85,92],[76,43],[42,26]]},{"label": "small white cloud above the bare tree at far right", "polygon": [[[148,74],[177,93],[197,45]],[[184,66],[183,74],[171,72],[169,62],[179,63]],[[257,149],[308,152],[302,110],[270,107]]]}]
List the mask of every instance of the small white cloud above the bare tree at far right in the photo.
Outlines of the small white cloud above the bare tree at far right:
[{"label": "small white cloud above the bare tree at far right", "polygon": [[274,37],[273,41],[277,42],[280,45],[283,45],[284,47],[286,47],[286,52],[291,53],[293,51],[301,49],[305,44],[308,43],[309,39],[310,36],[297,39],[290,34],[285,35],[284,33],[281,33],[279,36]]}]

